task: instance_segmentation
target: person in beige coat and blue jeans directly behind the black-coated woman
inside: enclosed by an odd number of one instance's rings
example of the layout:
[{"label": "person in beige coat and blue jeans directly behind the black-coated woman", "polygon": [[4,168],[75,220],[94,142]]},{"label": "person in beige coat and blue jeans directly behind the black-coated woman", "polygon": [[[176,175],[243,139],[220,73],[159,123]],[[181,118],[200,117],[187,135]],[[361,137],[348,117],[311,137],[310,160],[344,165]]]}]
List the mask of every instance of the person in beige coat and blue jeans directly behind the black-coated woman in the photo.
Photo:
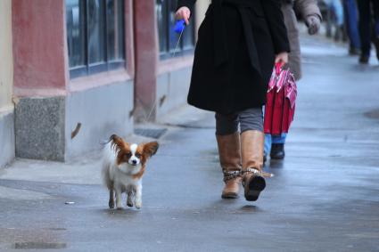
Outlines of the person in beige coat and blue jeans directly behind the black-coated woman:
[{"label": "person in beige coat and blue jeans directly behind the black-coated woman", "polygon": [[[299,13],[308,27],[310,35],[314,35],[321,25],[321,12],[317,6],[317,0],[282,0],[282,12],[284,23],[290,39],[291,53],[289,54],[289,67],[296,80],[301,78],[301,49],[299,39],[299,28],[293,7]],[[343,20],[342,20],[343,21]],[[286,134],[270,135],[265,137],[265,157],[270,153],[271,159],[284,159],[284,143]]]}]

